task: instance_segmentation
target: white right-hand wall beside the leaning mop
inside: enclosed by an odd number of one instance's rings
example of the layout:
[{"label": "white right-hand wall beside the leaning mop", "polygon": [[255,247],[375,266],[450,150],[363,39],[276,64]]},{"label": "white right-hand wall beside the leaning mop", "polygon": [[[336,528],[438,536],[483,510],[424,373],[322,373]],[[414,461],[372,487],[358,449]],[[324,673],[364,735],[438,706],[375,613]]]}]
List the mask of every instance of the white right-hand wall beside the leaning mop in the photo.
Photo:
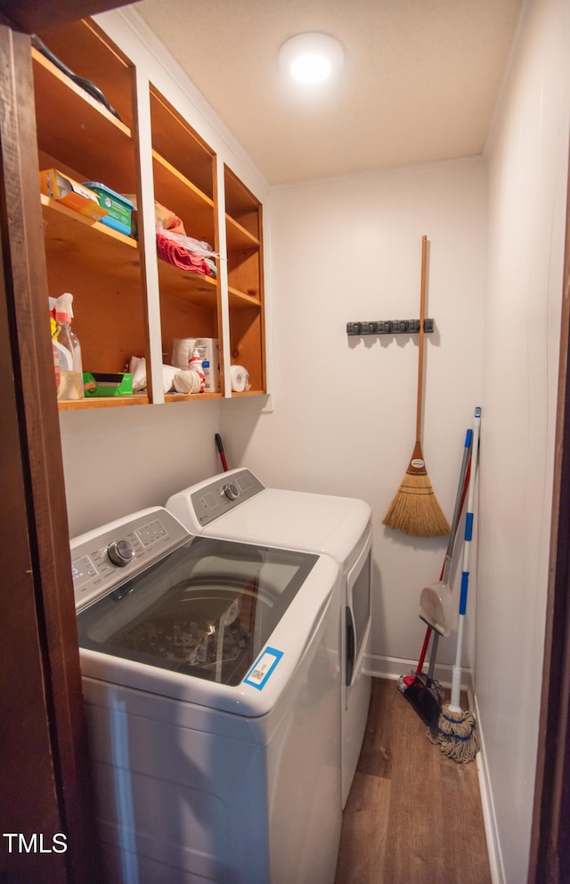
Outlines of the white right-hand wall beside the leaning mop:
[{"label": "white right-hand wall beside the leaning mop", "polygon": [[568,161],[570,7],[535,0],[490,163],[476,697],[504,880],[526,880],[542,679]]}]

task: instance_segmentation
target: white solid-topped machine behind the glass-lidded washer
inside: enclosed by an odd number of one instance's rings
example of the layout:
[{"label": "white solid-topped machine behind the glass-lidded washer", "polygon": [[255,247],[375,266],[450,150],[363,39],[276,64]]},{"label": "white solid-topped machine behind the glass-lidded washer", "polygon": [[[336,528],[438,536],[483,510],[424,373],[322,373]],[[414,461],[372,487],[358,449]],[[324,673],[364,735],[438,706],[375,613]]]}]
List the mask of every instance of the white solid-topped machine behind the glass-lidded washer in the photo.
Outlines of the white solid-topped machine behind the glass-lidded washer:
[{"label": "white solid-topped machine behind the glass-lidded washer", "polygon": [[371,516],[352,497],[266,488],[230,470],[171,496],[167,510],[192,533],[330,555],[341,569],[342,806],[353,782],[371,699],[363,670],[371,634]]}]

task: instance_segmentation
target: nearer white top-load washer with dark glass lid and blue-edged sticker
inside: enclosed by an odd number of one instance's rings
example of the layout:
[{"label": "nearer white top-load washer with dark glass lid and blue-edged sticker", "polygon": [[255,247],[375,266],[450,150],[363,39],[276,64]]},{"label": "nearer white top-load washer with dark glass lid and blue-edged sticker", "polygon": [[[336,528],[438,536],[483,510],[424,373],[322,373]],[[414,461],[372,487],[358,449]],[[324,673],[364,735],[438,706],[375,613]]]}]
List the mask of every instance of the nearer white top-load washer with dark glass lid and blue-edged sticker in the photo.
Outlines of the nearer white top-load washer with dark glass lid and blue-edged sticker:
[{"label": "nearer white top-load washer with dark glass lid and blue-edged sticker", "polygon": [[106,880],[332,884],[337,562],[160,507],[70,545]]}]

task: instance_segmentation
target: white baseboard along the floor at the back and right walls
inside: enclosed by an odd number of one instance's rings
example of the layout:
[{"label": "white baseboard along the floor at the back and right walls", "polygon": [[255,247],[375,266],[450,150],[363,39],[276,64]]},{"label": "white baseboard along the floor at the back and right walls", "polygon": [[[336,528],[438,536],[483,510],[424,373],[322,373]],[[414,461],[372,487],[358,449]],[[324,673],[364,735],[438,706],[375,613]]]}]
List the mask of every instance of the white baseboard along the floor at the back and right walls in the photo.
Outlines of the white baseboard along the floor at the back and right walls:
[{"label": "white baseboard along the floor at the back and right walls", "polygon": [[[417,662],[398,657],[379,657],[369,654],[363,661],[365,671],[376,678],[389,678],[394,681],[401,675],[415,672]],[[451,687],[452,667],[436,664],[434,676],[444,687]],[[476,755],[477,777],[479,791],[481,793],[481,806],[483,809],[483,821],[485,825],[485,839],[489,854],[492,884],[506,884],[505,872],[501,859],[501,846],[497,839],[497,827],[495,825],[495,813],[493,806],[493,790],[489,778],[489,770],[485,760],[484,727],[482,726],[477,707],[476,694],[473,689],[473,675],[470,669],[461,671],[461,689],[467,691],[469,708],[473,709],[479,730],[481,749]]]}]

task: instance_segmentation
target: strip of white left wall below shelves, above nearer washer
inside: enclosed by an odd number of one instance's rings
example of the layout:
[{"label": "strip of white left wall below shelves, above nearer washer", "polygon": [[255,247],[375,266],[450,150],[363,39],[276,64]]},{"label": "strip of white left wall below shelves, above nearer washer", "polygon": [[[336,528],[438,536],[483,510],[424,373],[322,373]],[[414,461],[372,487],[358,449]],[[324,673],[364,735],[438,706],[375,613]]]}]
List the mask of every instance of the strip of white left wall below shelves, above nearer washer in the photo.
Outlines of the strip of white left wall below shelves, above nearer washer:
[{"label": "strip of white left wall below shelves, above nearer washer", "polygon": [[219,471],[218,429],[216,399],[61,412],[69,536],[163,506],[175,491]]}]

